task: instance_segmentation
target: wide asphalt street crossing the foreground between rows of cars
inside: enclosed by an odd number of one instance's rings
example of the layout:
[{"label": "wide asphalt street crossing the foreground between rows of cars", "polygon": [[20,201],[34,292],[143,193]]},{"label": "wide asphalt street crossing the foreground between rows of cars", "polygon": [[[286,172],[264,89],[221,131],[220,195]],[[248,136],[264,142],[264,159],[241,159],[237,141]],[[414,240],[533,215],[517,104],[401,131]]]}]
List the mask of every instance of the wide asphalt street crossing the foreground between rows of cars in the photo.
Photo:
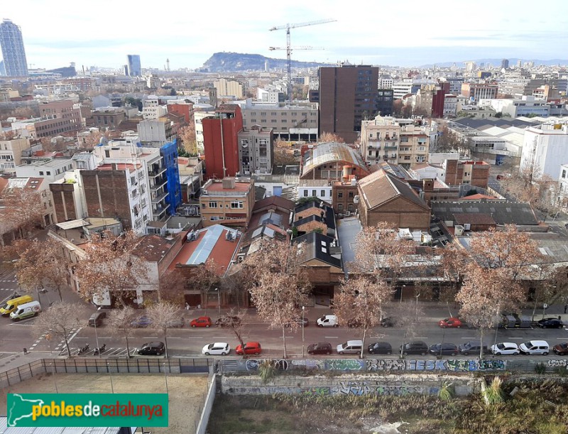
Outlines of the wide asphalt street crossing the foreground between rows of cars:
[{"label": "wide asphalt street crossing the foreground between rows of cars", "polygon": [[[11,276],[6,276],[5,285],[9,291],[13,291],[16,285],[11,279]],[[4,290],[6,295],[9,291]],[[38,294],[35,294],[36,296]],[[40,301],[42,305],[49,305],[48,300],[57,300],[58,295],[55,291],[47,291],[40,293]],[[75,294],[66,294],[65,298],[76,298]],[[76,301],[76,300],[75,300]],[[438,327],[437,321],[442,318],[447,318],[448,310],[444,305],[436,305],[435,303],[424,303],[425,316],[420,318],[419,324],[415,326],[415,335],[411,336],[407,330],[401,327],[375,327],[370,330],[366,337],[365,345],[377,340],[383,340],[391,343],[393,353],[397,352],[398,347],[403,342],[409,340],[423,340],[427,345],[432,345],[439,342],[452,342],[455,345],[460,345],[469,340],[479,340],[477,330],[469,330],[467,328],[461,329],[442,329]],[[410,313],[413,313],[413,304],[409,304],[408,308]],[[561,307],[557,306],[557,310]],[[93,305],[84,303],[84,311],[78,313],[79,318],[84,319],[84,324],[76,330],[70,332],[70,349],[73,356],[79,357],[93,357],[94,349],[102,345],[106,345],[106,351],[102,357],[126,357],[126,340],[123,336],[113,333],[108,325],[104,322],[101,326],[89,327],[87,320],[95,308]],[[546,313],[547,316],[557,316],[557,310]],[[222,313],[226,310],[222,310]],[[555,313],[553,313],[555,312]],[[219,318],[217,309],[205,310],[180,310],[184,316],[185,325],[182,328],[168,329],[168,354],[170,357],[196,357],[201,355],[201,349],[204,345],[211,342],[228,342],[231,345],[231,353],[234,354],[234,348],[239,342],[236,340],[234,333],[230,328],[221,327],[189,327],[189,322],[193,318],[200,315],[209,315],[213,322]],[[310,320],[310,325],[304,327],[304,349],[307,345],[315,342],[330,342],[332,348],[338,344],[346,342],[346,340],[358,340],[362,338],[363,331],[356,328],[349,327],[317,327],[315,325],[317,318],[322,314],[332,313],[327,308],[315,307],[306,311],[306,318]],[[525,312],[525,315],[529,314]],[[535,320],[541,318],[542,312],[535,316]],[[41,315],[41,314],[40,314]],[[143,310],[141,310],[143,315]],[[529,314],[530,315],[530,314]],[[33,325],[35,318],[29,318],[20,322],[13,322],[9,318],[0,318],[0,353],[15,354],[26,351],[33,352],[58,352],[59,354],[66,354],[65,343],[63,341],[55,342],[54,340],[45,340],[44,337],[33,335]],[[568,315],[564,315],[564,321],[568,320]],[[244,315],[243,339],[261,342],[263,347],[263,354],[270,357],[283,356],[283,342],[282,330],[280,328],[271,329],[266,322],[262,322],[256,316],[253,309],[249,309]],[[301,357],[302,356],[302,330],[298,328],[295,332],[290,329],[285,329],[286,346],[288,357]],[[492,345],[494,342],[515,342],[520,344],[528,340],[542,339],[547,340],[550,346],[554,346],[559,342],[568,341],[567,329],[498,329],[497,335],[495,330],[491,331],[484,337],[486,345]],[[145,342],[151,341],[164,341],[163,335],[151,327],[139,328],[133,331],[133,335],[129,338],[129,347],[131,355],[134,355],[136,348],[141,347]],[[84,345],[89,344],[89,351],[82,354],[79,349]],[[307,353],[305,353],[307,356]],[[4,357],[0,354],[1,357]],[[312,356],[322,357],[322,356]],[[332,354],[332,357],[339,357],[337,354]],[[345,357],[345,356],[341,356]],[[348,356],[354,357],[354,356]],[[428,357],[428,356],[426,356]],[[515,356],[523,357],[523,356]],[[549,357],[555,357],[551,352]]]}]

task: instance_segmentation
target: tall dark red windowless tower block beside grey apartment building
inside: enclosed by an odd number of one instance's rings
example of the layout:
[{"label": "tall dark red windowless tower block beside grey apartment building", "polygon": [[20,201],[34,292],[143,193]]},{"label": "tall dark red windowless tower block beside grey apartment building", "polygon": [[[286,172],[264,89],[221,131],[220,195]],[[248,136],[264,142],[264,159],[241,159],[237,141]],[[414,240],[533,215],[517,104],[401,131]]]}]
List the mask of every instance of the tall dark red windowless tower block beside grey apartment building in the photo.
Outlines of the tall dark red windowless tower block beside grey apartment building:
[{"label": "tall dark red windowless tower block beside grey apartment building", "polygon": [[223,179],[239,173],[239,132],[243,129],[241,109],[222,104],[214,116],[202,120],[205,176]]}]

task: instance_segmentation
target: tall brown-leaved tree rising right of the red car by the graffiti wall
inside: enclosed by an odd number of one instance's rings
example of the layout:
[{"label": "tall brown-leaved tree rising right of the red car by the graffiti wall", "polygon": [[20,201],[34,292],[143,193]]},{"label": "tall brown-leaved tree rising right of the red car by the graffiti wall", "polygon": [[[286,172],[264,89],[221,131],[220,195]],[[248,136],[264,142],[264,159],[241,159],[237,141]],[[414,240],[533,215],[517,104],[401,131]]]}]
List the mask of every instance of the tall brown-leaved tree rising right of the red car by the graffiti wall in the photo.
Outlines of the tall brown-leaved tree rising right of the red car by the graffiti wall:
[{"label": "tall brown-leaved tree rising right of the red car by the graffiti wall", "polygon": [[299,307],[307,302],[311,284],[302,263],[302,244],[265,239],[260,248],[244,261],[251,276],[249,291],[258,316],[269,322],[271,328],[282,330],[284,357],[286,353],[285,330],[289,325],[297,330],[295,321]]}]

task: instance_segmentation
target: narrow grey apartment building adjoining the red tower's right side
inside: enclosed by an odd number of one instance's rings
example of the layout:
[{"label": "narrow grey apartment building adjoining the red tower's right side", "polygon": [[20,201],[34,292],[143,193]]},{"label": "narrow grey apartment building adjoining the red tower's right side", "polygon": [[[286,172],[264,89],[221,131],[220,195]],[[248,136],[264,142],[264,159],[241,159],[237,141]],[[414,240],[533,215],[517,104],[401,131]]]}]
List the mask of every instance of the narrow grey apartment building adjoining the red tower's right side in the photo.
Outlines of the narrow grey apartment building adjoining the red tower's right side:
[{"label": "narrow grey apartment building adjoining the red tower's right side", "polygon": [[255,125],[239,132],[239,173],[272,173],[274,136],[271,129]]}]

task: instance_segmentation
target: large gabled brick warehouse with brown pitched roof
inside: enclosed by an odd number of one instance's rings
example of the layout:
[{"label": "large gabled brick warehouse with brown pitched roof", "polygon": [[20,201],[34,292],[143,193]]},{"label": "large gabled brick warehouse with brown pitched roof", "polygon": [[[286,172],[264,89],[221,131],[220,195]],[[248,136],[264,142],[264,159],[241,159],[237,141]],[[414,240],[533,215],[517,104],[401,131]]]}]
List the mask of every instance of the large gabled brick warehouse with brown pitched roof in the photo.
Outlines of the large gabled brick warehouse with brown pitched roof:
[{"label": "large gabled brick warehouse with brown pitched roof", "polygon": [[427,230],[430,207],[408,183],[377,170],[357,183],[359,218],[364,227],[389,222],[399,228]]}]

